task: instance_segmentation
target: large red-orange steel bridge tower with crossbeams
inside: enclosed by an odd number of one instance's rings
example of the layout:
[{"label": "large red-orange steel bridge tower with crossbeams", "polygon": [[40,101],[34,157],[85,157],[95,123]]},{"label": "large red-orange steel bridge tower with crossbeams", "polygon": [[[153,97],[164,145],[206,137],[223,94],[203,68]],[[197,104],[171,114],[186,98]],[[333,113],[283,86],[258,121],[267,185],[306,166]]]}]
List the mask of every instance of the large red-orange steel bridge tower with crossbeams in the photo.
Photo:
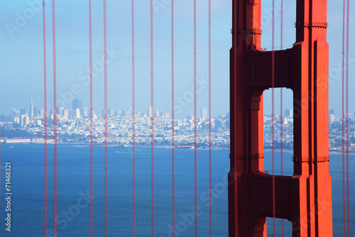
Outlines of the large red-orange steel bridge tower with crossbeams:
[{"label": "large red-orange steel bridge tower with crossbeams", "polygon": [[[294,173],[275,176],[275,216],[293,236],[332,236],[328,144],[327,1],[297,0],[293,48],[261,49],[261,0],[233,0],[229,237],[266,237],[273,177],[263,170],[263,91],[293,90]],[[268,158],[265,158],[268,159]],[[271,159],[271,158],[269,158]]]}]

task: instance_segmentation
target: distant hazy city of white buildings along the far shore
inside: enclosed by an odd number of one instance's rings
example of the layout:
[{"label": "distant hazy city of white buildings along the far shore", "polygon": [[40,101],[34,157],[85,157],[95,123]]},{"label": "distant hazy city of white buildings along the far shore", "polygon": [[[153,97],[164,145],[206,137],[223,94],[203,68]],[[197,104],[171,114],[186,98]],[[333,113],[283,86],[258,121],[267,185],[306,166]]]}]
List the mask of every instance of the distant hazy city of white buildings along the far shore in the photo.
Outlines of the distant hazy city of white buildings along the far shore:
[{"label": "distant hazy city of white buildings along the far shore", "polygon": [[[82,106],[80,99],[72,101],[72,109],[57,108],[57,142],[59,144],[89,145],[90,144],[90,110]],[[93,110],[93,143],[104,145],[104,110]],[[107,110],[108,144],[118,147],[131,147],[132,109]],[[99,114],[99,115],[97,115]],[[153,111],[147,108],[146,114],[135,111],[135,144],[137,147],[151,147],[151,118],[154,120],[154,145],[156,148],[171,148],[172,119],[170,112]],[[45,111],[33,106],[27,109],[10,109],[9,114],[2,114],[1,143],[44,143]],[[349,134],[354,134],[355,120],[349,117]],[[48,110],[48,143],[53,143],[53,109]],[[280,149],[281,117],[274,116],[274,148]],[[194,116],[174,121],[175,148],[194,148]],[[264,148],[272,149],[272,116],[263,116]],[[212,149],[229,150],[230,116],[229,113],[211,119]],[[293,110],[283,112],[283,149],[293,149]],[[337,118],[334,110],[329,111],[329,150],[342,150],[342,119]],[[200,110],[197,117],[197,148],[209,148],[209,119],[207,109]],[[349,150],[355,150],[355,136],[349,136]]]}]

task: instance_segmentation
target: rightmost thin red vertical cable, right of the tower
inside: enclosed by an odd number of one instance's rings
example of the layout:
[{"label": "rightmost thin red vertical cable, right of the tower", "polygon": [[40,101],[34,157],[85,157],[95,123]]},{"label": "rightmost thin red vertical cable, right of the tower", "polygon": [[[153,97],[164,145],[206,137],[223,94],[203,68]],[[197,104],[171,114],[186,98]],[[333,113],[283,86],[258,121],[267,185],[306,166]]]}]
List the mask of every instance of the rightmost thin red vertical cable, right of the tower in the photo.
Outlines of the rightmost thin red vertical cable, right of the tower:
[{"label": "rightmost thin red vertical cable, right of the tower", "polygon": [[346,13],[346,190],[347,190],[347,219],[348,236],[350,236],[350,213],[349,213],[349,7],[347,0]]}]

